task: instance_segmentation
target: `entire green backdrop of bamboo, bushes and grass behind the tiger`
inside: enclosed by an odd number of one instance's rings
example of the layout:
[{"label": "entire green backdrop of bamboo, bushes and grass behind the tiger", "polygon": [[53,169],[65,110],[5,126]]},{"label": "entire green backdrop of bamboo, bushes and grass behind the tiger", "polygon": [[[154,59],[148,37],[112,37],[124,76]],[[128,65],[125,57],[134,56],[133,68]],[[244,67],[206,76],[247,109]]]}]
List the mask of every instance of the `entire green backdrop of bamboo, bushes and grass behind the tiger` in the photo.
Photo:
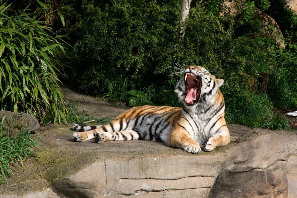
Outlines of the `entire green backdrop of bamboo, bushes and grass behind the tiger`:
[{"label": "entire green backdrop of bamboo, bushes and grass behind the tiger", "polygon": [[222,14],[223,2],[192,1],[179,24],[181,0],[2,0],[1,110],[65,122],[61,82],[129,106],[179,106],[172,74],[199,65],[225,80],[228,123],[289,129],[275,110],[297,107],[296,13],[285,0],[234,0]]}]

